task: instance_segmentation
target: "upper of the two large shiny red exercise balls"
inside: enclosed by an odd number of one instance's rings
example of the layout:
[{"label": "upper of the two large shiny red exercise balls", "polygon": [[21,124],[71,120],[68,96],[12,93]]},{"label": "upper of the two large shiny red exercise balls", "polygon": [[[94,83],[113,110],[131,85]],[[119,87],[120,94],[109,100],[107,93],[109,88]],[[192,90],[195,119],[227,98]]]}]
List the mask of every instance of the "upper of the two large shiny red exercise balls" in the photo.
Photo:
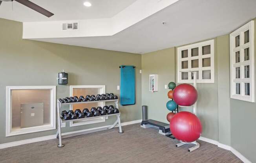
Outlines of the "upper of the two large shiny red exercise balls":
[{"label": "upper of the two large shiny red exercise balls", "polygon": [[180,106],[191,106],[196,103],[197,91],[190,84],[180,84],[173,91],[173,99]]}]

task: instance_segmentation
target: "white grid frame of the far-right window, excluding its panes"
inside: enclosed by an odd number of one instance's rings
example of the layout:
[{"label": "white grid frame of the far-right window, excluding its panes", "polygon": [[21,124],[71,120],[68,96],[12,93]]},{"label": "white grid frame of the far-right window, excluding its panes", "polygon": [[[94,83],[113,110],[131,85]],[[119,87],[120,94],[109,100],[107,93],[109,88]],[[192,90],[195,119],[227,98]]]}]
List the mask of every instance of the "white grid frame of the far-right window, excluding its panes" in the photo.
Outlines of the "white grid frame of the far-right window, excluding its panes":
[{"label": "white grid frame of the far-right window, excluding its panes", "polygon": [[[244,43],[244,32],[249,29],[249,42]],[[235,38],[240,35],[240,46]],[[244,49],[249,47],[249,60],[244,61]],[[236,63],[236,52],[240,51],[240,62]],[[250,65],[250,78],[245,77],[246,65]],[[236,67],[240,67],[240,79],[236,79]],[[240,83],[240,94],[236,94],[236,83]],[[250,96],[245,95],[245,83],[250,83]],[[230,33],[230,98],[254,102],[254,20]]]}]

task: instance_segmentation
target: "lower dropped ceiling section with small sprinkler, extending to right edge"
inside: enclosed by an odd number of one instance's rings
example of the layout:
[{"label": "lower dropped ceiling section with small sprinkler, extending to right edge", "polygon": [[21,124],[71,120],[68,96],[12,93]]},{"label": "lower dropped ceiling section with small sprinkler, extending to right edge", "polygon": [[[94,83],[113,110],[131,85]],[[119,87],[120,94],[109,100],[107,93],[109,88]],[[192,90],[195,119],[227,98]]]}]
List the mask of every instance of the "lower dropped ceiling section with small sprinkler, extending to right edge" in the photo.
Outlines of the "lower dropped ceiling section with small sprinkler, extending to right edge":
[{"label": "lower dropped ceiling section with small sprinkler, extending to right edge", "polygon": [[255,8],[256,0],[179,0],[113,36],[34,40],[142,54],[228,34]]}]

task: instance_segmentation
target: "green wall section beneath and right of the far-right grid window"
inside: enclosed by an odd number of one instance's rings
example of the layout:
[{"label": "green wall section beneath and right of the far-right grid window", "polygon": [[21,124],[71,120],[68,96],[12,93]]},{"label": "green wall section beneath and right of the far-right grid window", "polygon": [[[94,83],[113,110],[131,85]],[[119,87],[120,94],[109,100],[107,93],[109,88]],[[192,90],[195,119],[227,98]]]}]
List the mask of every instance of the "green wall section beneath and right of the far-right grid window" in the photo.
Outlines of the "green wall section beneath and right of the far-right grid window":
[{"label": "green wall section beneath and right of the far-right grid window", "polygon": [[[254,19],[254,28],[254,78],[256,78],[256,19]],[[256,92],[255,85],[254,88]],[[231,146],[252,163],[256,163],[256,103],[231,99],[230,115]]]}]

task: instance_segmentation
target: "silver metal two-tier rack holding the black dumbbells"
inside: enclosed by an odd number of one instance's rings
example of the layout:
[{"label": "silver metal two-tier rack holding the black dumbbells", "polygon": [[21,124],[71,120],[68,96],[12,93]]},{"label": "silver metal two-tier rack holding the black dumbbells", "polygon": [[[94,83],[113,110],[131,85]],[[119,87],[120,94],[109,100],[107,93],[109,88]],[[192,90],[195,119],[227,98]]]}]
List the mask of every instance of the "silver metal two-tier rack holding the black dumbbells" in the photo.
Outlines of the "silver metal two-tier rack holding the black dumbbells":
[{"label": "silver metal two-tier rack holding the black dumbbells", "polygon": [[81,134],[86,134],[89,132],[80,132],[80,133],[71,133],[71,134],[65,134],[63,135],[63,133],[61,132],[61,123],[65,123],[65,122],[70,122],[70,121],[82,121],[82,120],[92,120],[92,119],[96,119],[96,118],[101,118],[101,117],[108,117],[108,116],[117,116],[117,120],[113,123],[113,125],[101,128],[101,129],[94,129],[94,130],[90,130],[90,132],[96,132],[96,131],[101,131],[101,130],[108,130],[108,129],[112,129],[113,127],[115,127],[118,123],[118,127],[119,127],[119,133],[123,133],[122,131],[122,126],[121,126],[121,121],[120,121],[120,112],[116,113],[116,114],[108,114],[108,115],[104,115],[104,116],[95,116],[95,117],[88,117],[88,118],[80,118],[80,119],[75,119],[75,120],[63,120],[60,118],[60,109],[62,105],[73,105],[73,104],[79,104],[79,103],[97,103],[97,102],[110,102],[113,101],[115,103],[115,108],[118,109],[118,99],[116,100],[101,100],[101,101],[86,101],[86,102],[71,102],[71,103],[61,103],[59,100],[57,101],[57,115],[58,115],[58,130],[57,130],[57,134],[56,137],[59,138],[59,144],[58,147],[64,147],[64,144],[62,144],[62,137],[71,137],[71,136],[77,136],[77,135],[81,135]]}]

